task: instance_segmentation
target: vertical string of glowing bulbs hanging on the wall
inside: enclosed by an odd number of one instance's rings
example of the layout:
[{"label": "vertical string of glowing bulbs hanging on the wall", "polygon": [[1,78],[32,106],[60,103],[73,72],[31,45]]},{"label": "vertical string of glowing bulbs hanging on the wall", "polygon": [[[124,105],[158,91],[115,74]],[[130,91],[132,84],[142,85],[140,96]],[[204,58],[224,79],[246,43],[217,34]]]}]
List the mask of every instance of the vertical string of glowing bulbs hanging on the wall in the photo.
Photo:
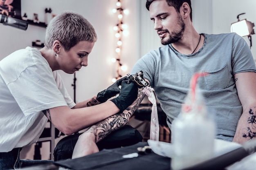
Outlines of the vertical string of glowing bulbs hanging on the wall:
[{"label": "vertical string of glowing bulbs hanging on the wall", "polygon": [[129,11],[127,9],[124,10],[122,8],[121,0],[117,1],[116,6],[117,7],[115,9],[112,9],[112,12],[118,13],[117,15],[118,23],[113,27],[113,30],[117,31],[117,33],[115,33],[115,37],[118,38],[117,47],[115,49],[117,53],[117,58],[112,58],[111,62],[117,63],[117,77],[112,78],[112,82],[116,82],[117,79],[122,77],[121,71],[127,71],[128,69],[126,65],[121,64],[120,60],[121,60],[121,50],[122,50],[122,44],[123,44],[121,39],[123,35],[124,36],[128,35],[128,31],[126,30],[128,26],[126,24],[123,24],[123,18],[124,18],[123,14],[127,15]]}]

